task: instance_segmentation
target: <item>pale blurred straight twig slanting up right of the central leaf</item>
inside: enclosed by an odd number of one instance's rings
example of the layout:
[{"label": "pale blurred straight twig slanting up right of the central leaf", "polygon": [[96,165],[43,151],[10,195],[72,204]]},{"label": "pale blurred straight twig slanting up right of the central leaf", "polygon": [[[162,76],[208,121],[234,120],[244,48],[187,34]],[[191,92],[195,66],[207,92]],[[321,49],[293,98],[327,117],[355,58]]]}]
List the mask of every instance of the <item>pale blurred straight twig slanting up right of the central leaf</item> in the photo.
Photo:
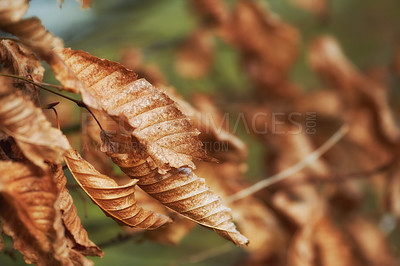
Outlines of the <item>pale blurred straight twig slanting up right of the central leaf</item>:
[{"label": "pale blurred straight twig slanting up right of the central leaf", "polygon": [[347,124],[343,125],[335,134],[332,135],[324,144],[322,144],[314,152],[310,153],[304,160],[296,163],[295,165],[283,170],[280,173],[272,175],[264,180],[261,180],[254,185],[245,188],[235,194],[232,194],[225,198],[225,203],[231,203],[236,200],[250,196],[261,189],[264,189],[272,184],[275,184],[283,179],[297,173],[298,171],[305,168],[307,165],[315,162],[320,158],[325,152],[332,148],[343,136],[349,131],[349,126]]}]

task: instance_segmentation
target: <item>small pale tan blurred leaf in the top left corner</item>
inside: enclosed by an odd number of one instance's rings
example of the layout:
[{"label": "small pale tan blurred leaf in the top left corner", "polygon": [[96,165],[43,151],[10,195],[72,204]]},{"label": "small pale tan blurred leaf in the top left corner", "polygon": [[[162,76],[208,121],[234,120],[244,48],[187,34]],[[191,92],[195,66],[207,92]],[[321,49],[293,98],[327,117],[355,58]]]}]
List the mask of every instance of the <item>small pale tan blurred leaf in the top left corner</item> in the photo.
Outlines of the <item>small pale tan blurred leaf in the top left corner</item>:
[{"label": "small pale tan blurred leaf in the top left corner", "polygon": [[15,23],[29,8],[28,0],[5,0],[0,3],[0,27]]}]

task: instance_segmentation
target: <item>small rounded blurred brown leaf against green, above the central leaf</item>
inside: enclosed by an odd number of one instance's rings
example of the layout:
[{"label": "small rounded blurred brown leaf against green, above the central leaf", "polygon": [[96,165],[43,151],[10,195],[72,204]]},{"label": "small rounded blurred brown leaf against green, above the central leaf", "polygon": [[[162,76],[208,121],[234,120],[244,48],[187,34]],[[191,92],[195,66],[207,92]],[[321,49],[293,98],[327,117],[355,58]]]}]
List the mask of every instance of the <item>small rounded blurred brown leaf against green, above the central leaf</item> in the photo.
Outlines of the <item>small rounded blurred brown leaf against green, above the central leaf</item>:
[{"label": "small rounded blurred brown leaf against green, above the central leaf", "polygon": [[198,79],[209,72],[213,59],[214,36],[206,28],[198,29],[179,48],[175,68],[185,78]]}]

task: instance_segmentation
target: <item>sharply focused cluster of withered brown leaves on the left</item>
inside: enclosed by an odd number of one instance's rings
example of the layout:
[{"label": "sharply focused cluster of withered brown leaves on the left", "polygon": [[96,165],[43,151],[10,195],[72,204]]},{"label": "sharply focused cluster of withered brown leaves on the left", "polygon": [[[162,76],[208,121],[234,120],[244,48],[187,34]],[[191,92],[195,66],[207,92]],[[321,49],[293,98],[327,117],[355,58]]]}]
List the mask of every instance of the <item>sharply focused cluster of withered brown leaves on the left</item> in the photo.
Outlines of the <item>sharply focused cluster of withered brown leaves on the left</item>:
[{"label": "sharply focused cluster of withered brown leaves on the left", "polygon": [[[83,8],[87,4],[82,1]],[[236,245],[247,245],[232,222],[231,209],[194,172],[195,161],[215,159],[206,155],[200,132],[179,100],[119,63],[65,49],[38,18],[23,18],[27,8],[28,1],[0,5],[1,29],[18,40],[0,43],[0,217],[3,232],[25,261],[91,265],[85,256],[103,256],[77,215],[66,188],[64,161],[105,215],[135,230],[161,227],[149,238],[167,239],[169,234],[171,240],[164,242],[175,243],[181,238],[175,234],[184,236],[195,222]],[[50,65],[59,88],[79,93],[78,105],[101,121],[96,128],[83,122],[88,133],[84,143],[97,145],[84,153],[88,158],[96,153],[95,158],[107,162],[100,169],[72,148],[40,108],[40,60]],[[107,157],[130,180],[117,178],[106,166],[111,166]],[[142,192],[136,197],[136,185],[155,200],[148,204]],[[141,201],[155,211],[141,207]],[[175,233],[180,228],[183,233]]]}]

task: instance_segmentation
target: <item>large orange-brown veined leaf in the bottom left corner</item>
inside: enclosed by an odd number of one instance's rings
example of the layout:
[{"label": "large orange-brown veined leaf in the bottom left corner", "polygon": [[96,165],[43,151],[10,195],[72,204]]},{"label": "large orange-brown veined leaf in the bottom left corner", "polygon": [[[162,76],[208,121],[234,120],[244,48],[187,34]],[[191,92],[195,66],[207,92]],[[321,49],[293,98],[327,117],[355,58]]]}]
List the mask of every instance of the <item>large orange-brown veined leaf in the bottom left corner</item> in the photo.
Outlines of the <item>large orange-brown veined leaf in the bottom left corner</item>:
[{"label": "large orange-brown veined leaf in the bottom left corner", "polygon": [[32,165],[3,161],[0,176],[3,229],[27,263],[90,264],[66,245],[61,213],[56,208],[57,188],[50,175],[38,175]]}]

